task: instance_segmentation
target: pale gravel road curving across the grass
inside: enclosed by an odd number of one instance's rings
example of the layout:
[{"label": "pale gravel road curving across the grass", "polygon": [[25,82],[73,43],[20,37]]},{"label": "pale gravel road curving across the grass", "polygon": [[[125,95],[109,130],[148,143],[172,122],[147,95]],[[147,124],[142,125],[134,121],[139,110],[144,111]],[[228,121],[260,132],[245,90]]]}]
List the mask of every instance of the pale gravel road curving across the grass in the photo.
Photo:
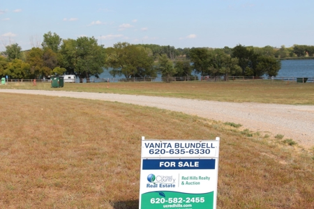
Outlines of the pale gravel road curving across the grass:
[{"label": "pale gravel road curving across the grass", "polygon": [[160,109],[181,111],[215,121],[240,123],[249,130],[269,132],[268,134],[274,135],[283,134],[285,135],[284,139],[293,139],[306,148],[314,146],[314,106],[216,102],[144,95],[69,91],[0,89],[0,93],[51,95],[158,107]]}]

